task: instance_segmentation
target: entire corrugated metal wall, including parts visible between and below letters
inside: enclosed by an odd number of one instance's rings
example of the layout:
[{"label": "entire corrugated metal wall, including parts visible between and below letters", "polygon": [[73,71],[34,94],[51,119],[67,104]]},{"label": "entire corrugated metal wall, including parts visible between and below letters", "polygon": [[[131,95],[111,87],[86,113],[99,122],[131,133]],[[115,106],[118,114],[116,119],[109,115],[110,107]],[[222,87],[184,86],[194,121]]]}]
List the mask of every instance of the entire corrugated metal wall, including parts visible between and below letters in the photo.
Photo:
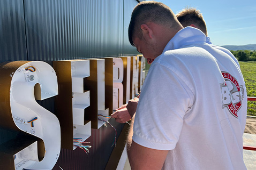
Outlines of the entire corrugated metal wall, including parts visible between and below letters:
[{"label": "entire corrugated metal wall, including parts visible between and below letters", "polygon": [[[1,0],[0,62],[104,58],[138,54],[127,29],[135,0]],[[54,99],[38,101],[55,111]],[[3,113],[1,113],[3,114]],[[117,135],[124,125],[110,120]],[[0,128],[0,144],[18,132]],[[54,169],[104,169],[115,132],[112,127],[92,129],[90,153],[61,150]],[[59,168],[59,166],[61,168]]]}]

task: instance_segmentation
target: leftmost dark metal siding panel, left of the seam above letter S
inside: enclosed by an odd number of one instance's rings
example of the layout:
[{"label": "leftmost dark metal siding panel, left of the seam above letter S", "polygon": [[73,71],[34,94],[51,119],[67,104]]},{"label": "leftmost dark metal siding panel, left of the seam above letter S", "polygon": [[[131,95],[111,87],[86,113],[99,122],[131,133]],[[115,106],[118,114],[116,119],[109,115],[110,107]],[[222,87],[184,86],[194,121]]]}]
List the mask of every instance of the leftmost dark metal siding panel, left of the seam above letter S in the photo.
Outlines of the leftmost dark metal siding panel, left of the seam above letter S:
[{"label": "leftmost dark metal siding panel, left of the seam above letter S", "polygon": [[27,60],[22,0],[0,1],[0,62]]}]

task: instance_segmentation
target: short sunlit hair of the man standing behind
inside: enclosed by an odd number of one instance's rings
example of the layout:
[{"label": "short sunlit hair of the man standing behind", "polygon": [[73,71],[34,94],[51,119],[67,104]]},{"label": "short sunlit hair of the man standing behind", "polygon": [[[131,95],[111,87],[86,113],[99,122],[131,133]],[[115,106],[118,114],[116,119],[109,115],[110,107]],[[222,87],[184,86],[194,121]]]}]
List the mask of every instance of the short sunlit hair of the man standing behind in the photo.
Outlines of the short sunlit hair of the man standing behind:
[{"label": "short sunlit hair of the man standing behind", "polygon": [[194,7],[187,7],[176,14],[177,19],[182,24],[183,27],[190,26],[194,24],[207,36],[207,28],[204,17],[202,13]]}]

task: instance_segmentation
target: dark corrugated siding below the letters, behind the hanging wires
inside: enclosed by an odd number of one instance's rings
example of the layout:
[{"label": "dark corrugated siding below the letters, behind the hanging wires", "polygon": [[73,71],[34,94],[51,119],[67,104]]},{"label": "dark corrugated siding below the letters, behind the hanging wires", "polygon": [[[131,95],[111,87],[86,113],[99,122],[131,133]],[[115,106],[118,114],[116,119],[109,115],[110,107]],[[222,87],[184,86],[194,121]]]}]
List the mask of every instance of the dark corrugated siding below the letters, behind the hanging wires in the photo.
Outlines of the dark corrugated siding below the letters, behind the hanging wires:
[{"label": "dark corrugated siding below the letters, behind the hanging wires", "polygon": [[[110,124],[117,129],[117,137],[121,134],[123,124],[109,120]],[[115,130],[107,124],[99,129],[92,129],[92,136],[86,141],[91,142],[88,155],[81,149],[61,149],[60,156],[53,170],[63,169],[84,170],[84,169],[105,169],[108,159],[114,146],[111,147],[115,138]]]}]

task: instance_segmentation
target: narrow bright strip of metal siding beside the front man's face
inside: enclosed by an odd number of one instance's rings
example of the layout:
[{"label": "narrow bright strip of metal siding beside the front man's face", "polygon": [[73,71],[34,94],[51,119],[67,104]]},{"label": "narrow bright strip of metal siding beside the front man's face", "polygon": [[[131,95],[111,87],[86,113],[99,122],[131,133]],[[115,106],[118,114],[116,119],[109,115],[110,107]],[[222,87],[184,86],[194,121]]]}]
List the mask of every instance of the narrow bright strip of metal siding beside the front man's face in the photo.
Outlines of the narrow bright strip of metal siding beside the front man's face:
[{"label": "narrow bright strip of metal siding beside the front man's face", "polygon": [[131,20],[133,8],[138,4],[136,0],[124,0],[124,37],[123,37],[123,53],[124,56],[140,54],[135,47],[133,47],[128,38],[128,28]]}]

